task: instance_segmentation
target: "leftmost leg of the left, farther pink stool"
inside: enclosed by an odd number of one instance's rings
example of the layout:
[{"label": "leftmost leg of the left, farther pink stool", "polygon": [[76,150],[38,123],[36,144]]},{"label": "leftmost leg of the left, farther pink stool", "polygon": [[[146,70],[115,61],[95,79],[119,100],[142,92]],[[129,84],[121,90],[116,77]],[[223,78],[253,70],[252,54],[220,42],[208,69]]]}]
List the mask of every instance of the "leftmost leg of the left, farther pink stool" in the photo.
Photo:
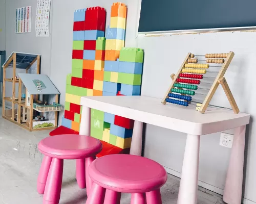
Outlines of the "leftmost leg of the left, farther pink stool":
[{"label": "leftmost leg of the left, farther pink stool", "polygon": [[51,162],[51,157],[44,156],[44,159],[42,159],[42,164],[37,178],[37,192],[39,194],[44,194],[45,192],[46,181],[51,166]]}]

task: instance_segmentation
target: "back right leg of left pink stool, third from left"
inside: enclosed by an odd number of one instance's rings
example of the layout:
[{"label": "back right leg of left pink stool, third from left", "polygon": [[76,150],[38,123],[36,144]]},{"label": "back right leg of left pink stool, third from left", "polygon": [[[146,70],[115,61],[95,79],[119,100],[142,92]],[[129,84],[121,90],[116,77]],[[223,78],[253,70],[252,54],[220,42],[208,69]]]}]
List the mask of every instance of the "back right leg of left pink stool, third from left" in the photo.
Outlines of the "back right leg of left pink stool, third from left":
[{"label": "back right leg of left pink stool, third from left", "polygon": [[76,160],[76,181],[80,188],[86,188],[86,160]]}]

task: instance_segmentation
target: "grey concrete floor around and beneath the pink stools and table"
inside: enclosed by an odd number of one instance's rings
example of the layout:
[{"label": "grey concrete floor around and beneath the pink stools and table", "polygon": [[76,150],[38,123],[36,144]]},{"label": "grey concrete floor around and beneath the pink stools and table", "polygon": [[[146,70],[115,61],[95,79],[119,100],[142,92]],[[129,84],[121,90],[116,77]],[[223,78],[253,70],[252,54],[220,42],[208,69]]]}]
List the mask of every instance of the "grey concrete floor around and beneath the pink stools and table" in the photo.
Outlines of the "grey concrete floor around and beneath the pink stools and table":
[{"label": "grey concrete floor around and beneath the pink stools and table", "polygon": [[[42,203],[42,195],[36,192],[37,173],[42,155],[37,143],[50,131],[28,132],[3,119],[0,107],[0,204]],[[85,204],[85,189],[79,189],[75,180],[75,163],[64,162],[61,204]],[[161,188],[163,203],[177,203],[180,179],[168,175]],[[131,196],[123,194],[121,203],[130,203]],[[198,204],[224,203],[222,196],[204,188],[198,189]]]}]

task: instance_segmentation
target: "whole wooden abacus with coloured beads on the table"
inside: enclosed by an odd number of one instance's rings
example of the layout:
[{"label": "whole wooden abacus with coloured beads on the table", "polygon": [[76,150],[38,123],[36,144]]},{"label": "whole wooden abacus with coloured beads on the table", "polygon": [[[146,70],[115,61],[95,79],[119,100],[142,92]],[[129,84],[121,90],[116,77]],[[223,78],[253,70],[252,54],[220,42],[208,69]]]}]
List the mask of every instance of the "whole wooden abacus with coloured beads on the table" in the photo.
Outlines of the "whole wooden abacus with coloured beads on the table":
[{"label": "whole wooden abacus with coloured beads on the table", "polygon": [[[206,69],[209,69],[211,66],[215,66],[215,65],[209,65],[209,63],[222,64],[222,66],[220,66],[221,67],[220,70],[217,71],[217,76],[214,82],[212,83],[208,93],[205,94],[206,97],[204,98],[199,111],[201,113],[205,112],[206,108],[210,103],[212,96],[214,96],[219,84],[221,84],[228,98],[228,101],[233,109],[233,112],[235,114],[238,114],[239,108],[229,89],[227,81],[224,78],[224,74],[231,60],[233,59],[233,56],[234,56],[233,52],[229,52],[225,54],[206,54],[206,55],[194,55],[194,54],[188,53],[177,74],[171,75],[173,82],[168,88],[162,100],[162,103],[164,105],[168,102],[168,103],[177,104],[181,106],[188,106],[189,103],[192,101],[192,97],[187,95],[196,94],[194,90],[198,89],[197,85],[199,85],[201,83],[200,80],[204,78],[203,74],[206,74],[208,72]],[[198,60],[195,57],[205,57],[206,60]],[[191,59],[191,58],[194,58],[194,59]],[[211,59],[211,58],[214,58],[214,59]],[[206,64],[197,64],[200,61],[204,61],[206,62]],[[178,100],[178,99],[181,99],[181,100]]]}]

